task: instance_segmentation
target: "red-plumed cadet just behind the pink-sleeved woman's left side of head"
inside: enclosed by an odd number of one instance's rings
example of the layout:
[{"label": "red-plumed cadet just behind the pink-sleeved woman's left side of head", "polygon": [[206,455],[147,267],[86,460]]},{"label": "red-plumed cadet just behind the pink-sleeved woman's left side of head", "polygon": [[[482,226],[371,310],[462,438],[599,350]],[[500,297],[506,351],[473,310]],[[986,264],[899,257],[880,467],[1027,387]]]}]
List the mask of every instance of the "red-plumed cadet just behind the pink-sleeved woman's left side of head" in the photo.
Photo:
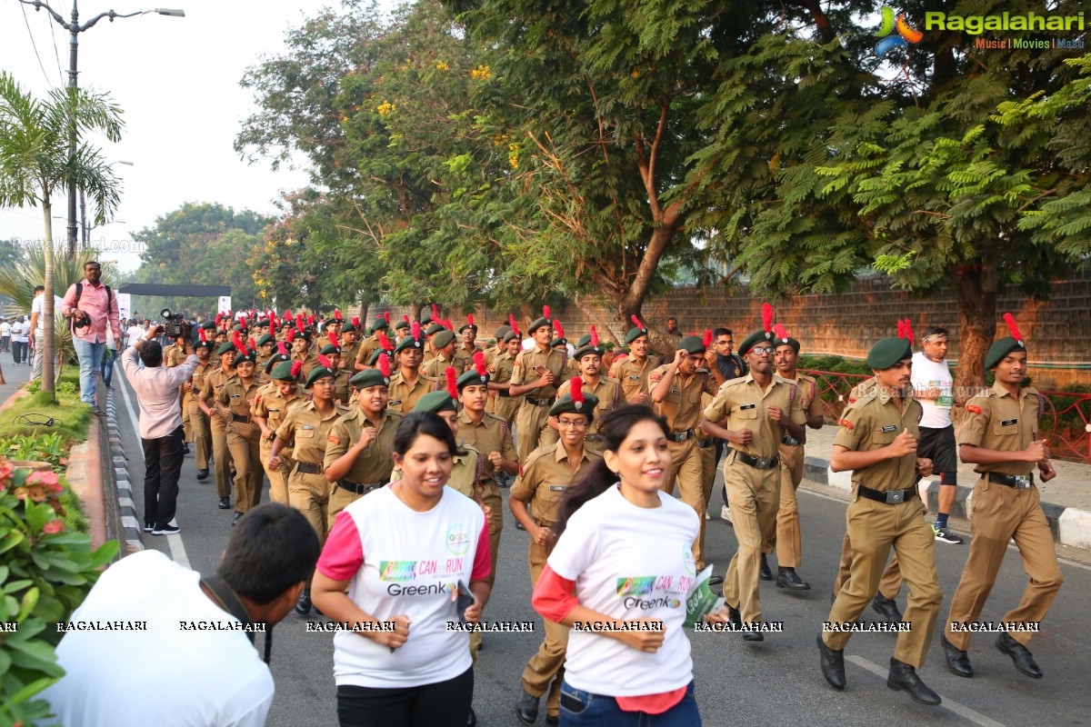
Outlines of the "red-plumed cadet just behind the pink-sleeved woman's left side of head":
[{"label": "red-plumed cadet just behind the pink-sleeved woman's left side of head", "polygon": [[326,437],[329,529],[338,512],[389,482],[394,433],[401,422],[401,414],[386,405],[389,383],[391,363],[381,353],[379,368],[352,376],[357,405],[337,417]]}]

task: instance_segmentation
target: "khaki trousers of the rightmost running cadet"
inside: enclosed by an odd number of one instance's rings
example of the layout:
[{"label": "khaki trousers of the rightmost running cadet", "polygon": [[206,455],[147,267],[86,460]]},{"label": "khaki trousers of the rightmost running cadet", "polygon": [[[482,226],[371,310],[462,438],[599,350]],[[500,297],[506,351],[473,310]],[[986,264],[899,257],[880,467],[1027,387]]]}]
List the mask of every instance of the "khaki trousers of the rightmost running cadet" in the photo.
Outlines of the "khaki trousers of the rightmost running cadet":
[{"label": "khaki trousers of the rightmost running cadet", "polygon": [[[1023,589],[1019,605],[1000,619],[1008,621],[1041,621],[1060,590],[1060,566],[1050,532],[1050,523],[1042,512],[1038,487],[1015,489],[985,478],[973,488],[973,519],[970,521],[973,540],[970,555],[951,598],[947,618],[947,640],[967,651],[970,633],[955,633],[951,623],[975,622],[996,582],[996,573],[1004,562],[1008,541],[1015,538],[1023,570],[1030,582]],[[1030,631],[1014,631],[1011,638],[1026,646]]]}]

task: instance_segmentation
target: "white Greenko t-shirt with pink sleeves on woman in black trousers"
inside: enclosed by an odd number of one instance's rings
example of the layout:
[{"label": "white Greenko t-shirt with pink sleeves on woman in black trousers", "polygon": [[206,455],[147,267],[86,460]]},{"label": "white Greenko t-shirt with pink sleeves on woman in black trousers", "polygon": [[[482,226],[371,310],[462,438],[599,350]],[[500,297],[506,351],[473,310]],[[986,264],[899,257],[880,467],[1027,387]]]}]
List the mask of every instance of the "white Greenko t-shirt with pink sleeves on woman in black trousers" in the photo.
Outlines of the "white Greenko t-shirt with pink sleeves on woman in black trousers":
[{"label": "white Greenko t-shirt with pink sleeves on woman in black trousers", "polygon": [[[362,564],[361,564],[362,560]],[[420,687],[470,668],[469,637],[451,589],[489,575],[489,525],[471,499],[451,487],[428,512],[417,512],[389,487],[361,497],[337,516],[319,570],[350,580],[348,597],[380,621],[409,617],[409,639],[391,652],[350,631],[334,634],[338,686]]]}]

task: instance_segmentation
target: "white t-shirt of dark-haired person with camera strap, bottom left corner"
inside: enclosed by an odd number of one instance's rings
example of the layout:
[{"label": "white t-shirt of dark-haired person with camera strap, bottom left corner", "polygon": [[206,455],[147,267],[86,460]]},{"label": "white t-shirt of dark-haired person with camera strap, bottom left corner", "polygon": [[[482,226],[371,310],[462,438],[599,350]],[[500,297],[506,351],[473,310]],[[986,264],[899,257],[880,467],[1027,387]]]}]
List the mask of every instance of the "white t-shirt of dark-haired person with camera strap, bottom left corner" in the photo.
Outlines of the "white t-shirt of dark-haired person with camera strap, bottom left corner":
[{"label": "white t-shirt of dark-haired person with camera strap, bottom left corner", "polygon": [[57,658],[67,674],[41,693],[60,724],[265,724],[273,703],[273,675],[245,633],[182,629],[183,622],[195,628],[201,622],[240,625],[201,591],[200,578],[158,550],[122,558],[103,573],[72,622],[141,622],[147,630],[64,634]]}]

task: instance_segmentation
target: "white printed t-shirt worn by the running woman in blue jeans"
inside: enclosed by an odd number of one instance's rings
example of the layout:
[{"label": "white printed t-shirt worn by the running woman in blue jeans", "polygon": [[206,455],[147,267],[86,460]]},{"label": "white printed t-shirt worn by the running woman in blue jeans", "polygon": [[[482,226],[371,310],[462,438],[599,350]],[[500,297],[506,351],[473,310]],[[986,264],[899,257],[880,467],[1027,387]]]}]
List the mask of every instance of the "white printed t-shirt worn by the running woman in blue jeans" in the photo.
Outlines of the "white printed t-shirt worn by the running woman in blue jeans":
[{"label": "white printed t-shirt worn by the running woman in blue jeans", "polygon": [[576,689],[643,696],[693,680],[682,623],[696,577],[691,546],[700,522],[693,508],[669,495],[659,493],[659,502],[658,508],[637,507],[611,487],[572,516],[550,554],[553,572],[576,582],[582,606],[616,619],[659,619],[667,628],[655,654],[573,629],[564,679]]}]

